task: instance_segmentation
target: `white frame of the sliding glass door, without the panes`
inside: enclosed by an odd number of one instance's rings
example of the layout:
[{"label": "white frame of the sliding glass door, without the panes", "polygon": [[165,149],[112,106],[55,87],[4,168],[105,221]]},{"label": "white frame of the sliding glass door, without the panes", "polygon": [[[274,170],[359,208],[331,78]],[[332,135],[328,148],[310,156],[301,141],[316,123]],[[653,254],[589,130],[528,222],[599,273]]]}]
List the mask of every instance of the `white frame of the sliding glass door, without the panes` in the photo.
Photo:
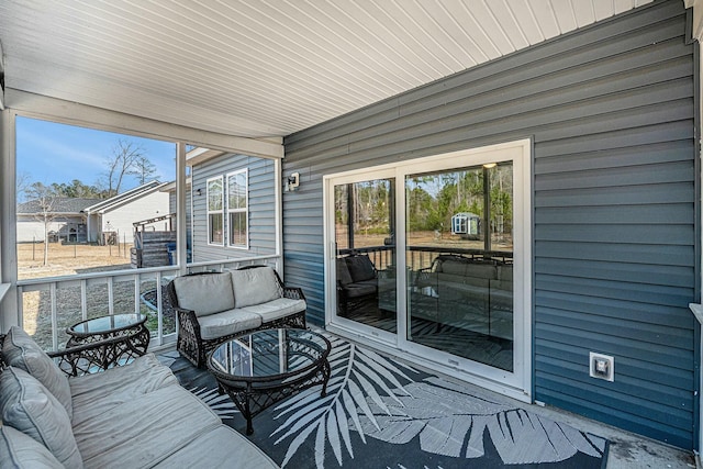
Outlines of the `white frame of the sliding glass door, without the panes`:
[{"label": "white frame of the sliding glass door, without the panes", "polygon": [[[466,358],[432,349],[408,340],[406,217],[405,177],[425,171],[450,170],[486,163],[513,164],[513,371],[505,371]],[[335,332],[348,333],[360,342],[386,345],[398,356],[431,366],[449,376],[470,380],[475,384],[532,402],[533,368],[533,168],[532,139],[525,138],[498,145],[451,152],[390,165],[328,175],[324,177],[324,246],[325,246],[325,325]],[[336,316],[336,273],[334,232],[334,186],[369,179],[395,179],[395,252],[398,334],[370,331],[372,327]]]}]

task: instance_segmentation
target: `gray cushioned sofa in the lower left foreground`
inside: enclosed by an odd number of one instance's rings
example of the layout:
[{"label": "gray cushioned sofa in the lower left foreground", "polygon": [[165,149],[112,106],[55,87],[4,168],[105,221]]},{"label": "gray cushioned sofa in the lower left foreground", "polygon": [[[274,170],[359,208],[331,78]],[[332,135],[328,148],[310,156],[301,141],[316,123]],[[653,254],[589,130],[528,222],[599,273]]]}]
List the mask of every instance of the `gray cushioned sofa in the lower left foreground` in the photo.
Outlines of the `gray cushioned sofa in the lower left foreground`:
[{"label": "gray cushioned sofa in the lower left foreground", "polygon": [[12,327],[2,339],[2,360],[1,468],[278,467],[153,354],[67,377]]}]

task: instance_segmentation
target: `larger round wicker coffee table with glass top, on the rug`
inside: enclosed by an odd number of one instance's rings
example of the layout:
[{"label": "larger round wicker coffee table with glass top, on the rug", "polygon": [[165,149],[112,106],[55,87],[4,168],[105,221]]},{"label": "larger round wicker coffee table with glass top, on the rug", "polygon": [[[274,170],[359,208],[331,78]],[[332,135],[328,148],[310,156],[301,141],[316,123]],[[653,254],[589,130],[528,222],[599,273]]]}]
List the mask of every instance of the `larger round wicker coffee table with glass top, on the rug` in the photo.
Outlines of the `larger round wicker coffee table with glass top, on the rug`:
[{"label": "larger round wicker coffee table with glass top, on the rug", "polygon": [[227,340],[208,356],[208,368],[254,433],[252,418],[289,395],[322,383],[324,398],[332,345],[309,330],[271,328]]}]

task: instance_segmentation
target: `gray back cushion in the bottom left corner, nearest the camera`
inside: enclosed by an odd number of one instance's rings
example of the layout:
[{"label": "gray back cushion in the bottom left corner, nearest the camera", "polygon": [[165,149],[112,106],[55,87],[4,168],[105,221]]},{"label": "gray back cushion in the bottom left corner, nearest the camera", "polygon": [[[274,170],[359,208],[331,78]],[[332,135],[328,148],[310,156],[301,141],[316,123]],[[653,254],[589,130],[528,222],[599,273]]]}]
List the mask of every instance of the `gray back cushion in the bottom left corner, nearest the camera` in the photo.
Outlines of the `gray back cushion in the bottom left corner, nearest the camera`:
[{"label": "gray back cushion in the bottom left corner, nearest the camera", "polygon": [[0,468],[64,469],[64,465],[31,436],[9,425],[0,426]]}]

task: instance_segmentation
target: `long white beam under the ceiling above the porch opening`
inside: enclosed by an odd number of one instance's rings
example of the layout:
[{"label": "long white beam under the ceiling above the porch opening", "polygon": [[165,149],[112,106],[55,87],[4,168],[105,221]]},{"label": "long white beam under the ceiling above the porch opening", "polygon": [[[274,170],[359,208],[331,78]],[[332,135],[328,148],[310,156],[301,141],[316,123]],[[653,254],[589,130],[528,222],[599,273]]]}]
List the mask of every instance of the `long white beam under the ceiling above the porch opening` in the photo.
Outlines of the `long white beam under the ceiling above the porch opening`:
[{"label": "long white beam under the ceiling above the porch opening", "polygon": [[125,132],[163,141],[180,141],[204,148],[261,158],[282,158],[284,156],[281,137],[259,139],[226,135],[29,93],[13,88],[7,89],[5,98],[5,105],[9,109],[27,118],[52,120],[109,132]]}]

